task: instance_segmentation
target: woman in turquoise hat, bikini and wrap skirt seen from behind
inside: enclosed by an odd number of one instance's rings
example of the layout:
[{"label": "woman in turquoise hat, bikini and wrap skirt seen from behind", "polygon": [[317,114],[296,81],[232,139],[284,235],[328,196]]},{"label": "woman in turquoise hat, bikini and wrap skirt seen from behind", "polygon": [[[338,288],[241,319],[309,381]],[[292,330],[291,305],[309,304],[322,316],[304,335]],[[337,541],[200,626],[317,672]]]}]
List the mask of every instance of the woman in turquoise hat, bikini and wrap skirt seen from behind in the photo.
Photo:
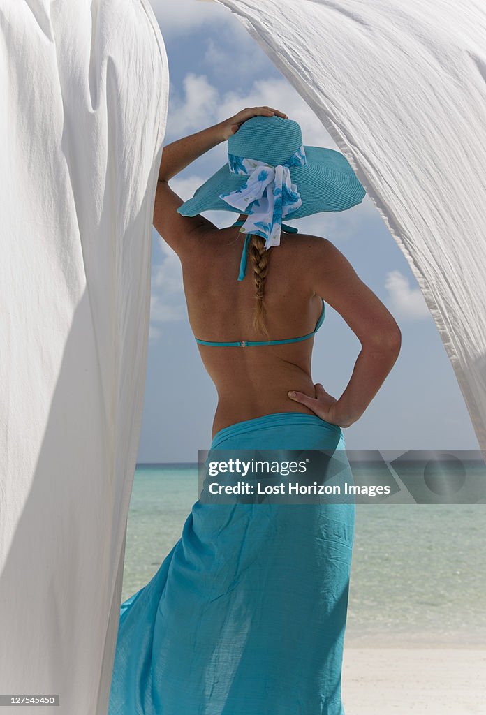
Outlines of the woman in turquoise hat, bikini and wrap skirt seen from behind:
[{"label": "woman in turquoise hat, bikini and wrap skirt seen from behind", "polygon": [[[183,203],[169,179],[226,140],[228,164]],[[269,107],[164,147],[154,226],[182,262],[217,388],[212,455],[327,450],[352,480],[341,428],[380,389],[400,330],[331,241],[282,218],[363,196],[342,154],[304,147],[299,125]],[[239,220],[218,229],[208,209]],[[362,345],[339,399],[311,377],[324,301]],[[349,503],[198,500],[152,581],[122,604],[109,715],[343,715],[353,538]]]}]

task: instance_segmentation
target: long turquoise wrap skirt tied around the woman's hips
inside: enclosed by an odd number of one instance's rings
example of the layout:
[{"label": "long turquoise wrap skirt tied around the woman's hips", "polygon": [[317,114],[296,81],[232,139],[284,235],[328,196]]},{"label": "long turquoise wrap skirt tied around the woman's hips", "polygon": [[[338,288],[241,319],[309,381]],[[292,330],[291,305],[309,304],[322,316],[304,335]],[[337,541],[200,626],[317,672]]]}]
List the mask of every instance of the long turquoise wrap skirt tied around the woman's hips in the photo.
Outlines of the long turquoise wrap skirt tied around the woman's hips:
[{"label": "long turquoise wrap skirt tied around the woman's hips", "polygon": [[[239,449],[332,455],[344,439],[317,415],[276,413],[214,436],[211,450]],[[199,499],[122,603],[109,715],[344,715],[353,541],[354,503]]]}]

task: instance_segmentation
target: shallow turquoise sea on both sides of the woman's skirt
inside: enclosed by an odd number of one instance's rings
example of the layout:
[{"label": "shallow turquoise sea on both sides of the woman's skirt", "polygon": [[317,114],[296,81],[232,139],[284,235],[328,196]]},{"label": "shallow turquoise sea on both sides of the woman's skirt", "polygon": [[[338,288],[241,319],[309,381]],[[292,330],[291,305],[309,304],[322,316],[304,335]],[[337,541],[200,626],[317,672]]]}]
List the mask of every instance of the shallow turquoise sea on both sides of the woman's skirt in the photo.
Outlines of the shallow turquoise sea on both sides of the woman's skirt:
[{"label": "shallow turquoise sea on both sides of the woman's skirt", "polygon": [[[137,465],[123,601],[158,570],[197,498],[197,465]],[[481,503],[358,503],[347,641],[484,646],[485,513]]]}]

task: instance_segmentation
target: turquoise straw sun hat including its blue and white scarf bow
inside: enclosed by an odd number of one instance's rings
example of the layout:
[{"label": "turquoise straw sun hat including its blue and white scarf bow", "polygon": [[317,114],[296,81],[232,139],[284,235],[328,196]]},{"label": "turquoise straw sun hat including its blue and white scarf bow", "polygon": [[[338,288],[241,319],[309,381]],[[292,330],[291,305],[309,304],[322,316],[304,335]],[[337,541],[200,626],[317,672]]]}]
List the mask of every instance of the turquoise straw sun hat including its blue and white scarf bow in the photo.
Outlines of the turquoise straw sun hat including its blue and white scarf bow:
[{"label": "turquoise straw sun hat including its blue and white scarf bow", "polygon": [[[252,117],[228,139],[228,162],[179,206],[182,216],[203,211],[247,214],[238,280],[246,272],[249,237],[278,246],[282,219],[322,211],[345,211],[362,202],[366,191],[346,157],[334,149],[304,147],[297,122],[283,117]],[[239,222],[237,222],[239,225]]]}]

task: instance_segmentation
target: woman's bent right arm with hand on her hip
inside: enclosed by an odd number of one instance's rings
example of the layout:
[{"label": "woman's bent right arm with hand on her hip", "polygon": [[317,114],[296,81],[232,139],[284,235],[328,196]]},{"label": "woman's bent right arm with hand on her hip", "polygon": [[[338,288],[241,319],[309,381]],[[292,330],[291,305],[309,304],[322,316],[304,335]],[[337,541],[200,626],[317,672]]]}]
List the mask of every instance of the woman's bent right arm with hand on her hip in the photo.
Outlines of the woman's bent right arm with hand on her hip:
[{"label": "woman's bent right arm with hand on her hip", "polygon": [[[316,385],[316,395],[289,397],[327,422],[349,427],[370,405],[400,352],[401,332],[387,307],[360,280],[347,258],[327,239],[309,245],[314,291],[339,312],[361,343],[351,379],[339,400]],[[293,396],[294,395],[294,396]]]}]

